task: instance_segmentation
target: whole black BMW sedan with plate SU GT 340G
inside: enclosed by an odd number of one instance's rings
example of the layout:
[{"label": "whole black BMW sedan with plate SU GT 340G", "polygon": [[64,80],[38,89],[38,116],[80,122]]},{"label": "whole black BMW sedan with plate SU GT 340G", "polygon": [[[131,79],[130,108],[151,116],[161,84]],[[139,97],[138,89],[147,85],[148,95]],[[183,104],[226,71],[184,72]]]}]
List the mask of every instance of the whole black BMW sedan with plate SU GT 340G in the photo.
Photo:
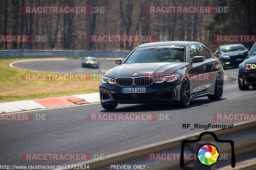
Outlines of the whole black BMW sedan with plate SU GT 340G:
[{"label": "whole black BMW sedan with plate SU GT 340G", "polygon": [[142,44],[100,82],[105,109],[119,104],[175,101],[187,107],[191,99],[219,100],[224,71],[220,61],[199,42],[165,41]]}]

